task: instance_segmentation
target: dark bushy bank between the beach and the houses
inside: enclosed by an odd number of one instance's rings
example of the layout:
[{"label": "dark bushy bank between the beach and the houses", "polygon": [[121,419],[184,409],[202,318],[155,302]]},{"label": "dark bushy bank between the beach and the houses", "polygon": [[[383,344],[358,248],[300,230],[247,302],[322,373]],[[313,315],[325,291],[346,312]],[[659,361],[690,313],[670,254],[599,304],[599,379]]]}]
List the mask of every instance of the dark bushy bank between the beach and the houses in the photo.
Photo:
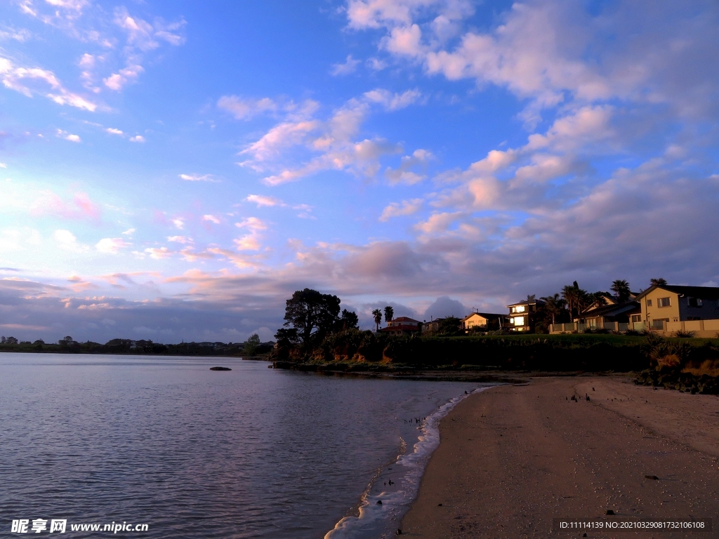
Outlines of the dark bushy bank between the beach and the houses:
[{"label": "dark bushy bank between the beach and the houses", "polygon": [[325,338],[311,350],[285,347],[274,359],[307,367],[334,364],[338,369],[365,364],[367,368],[629,372],[652,367],[672,354],[679,354],[682,363],[719,359],[719,339],[603,334],[392,337],[346,331]]}]

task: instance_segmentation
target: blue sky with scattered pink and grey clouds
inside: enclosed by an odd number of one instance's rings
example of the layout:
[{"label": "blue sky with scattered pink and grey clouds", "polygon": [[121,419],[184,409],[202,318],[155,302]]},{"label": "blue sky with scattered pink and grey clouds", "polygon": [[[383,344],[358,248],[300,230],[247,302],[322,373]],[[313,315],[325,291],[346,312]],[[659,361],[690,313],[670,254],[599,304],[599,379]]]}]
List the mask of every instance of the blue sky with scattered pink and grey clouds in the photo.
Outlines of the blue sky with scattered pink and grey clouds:
[{"label": "blue sky with scattered pink and grey clouds", "polygon": [[719,282],[719,4],[5,0],[0,333]]}]

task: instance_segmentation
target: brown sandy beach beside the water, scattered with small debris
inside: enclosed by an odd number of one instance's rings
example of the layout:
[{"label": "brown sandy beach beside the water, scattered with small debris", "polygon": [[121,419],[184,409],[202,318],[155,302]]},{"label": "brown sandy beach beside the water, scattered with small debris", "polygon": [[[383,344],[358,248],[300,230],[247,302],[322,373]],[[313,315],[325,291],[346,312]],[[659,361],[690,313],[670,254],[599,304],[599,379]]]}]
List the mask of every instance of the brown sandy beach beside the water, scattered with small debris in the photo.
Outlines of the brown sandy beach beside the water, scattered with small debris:
[{"label": "brown sandy beach beside the water, scattered with small debris", "polygon": [[[538,377],[468,397],[440,430],[402,521],[408,537],[719,537],[719,397],[622,376]],[[554,518],[608,510],[712,518],[713,531],[552,530]]]}]

